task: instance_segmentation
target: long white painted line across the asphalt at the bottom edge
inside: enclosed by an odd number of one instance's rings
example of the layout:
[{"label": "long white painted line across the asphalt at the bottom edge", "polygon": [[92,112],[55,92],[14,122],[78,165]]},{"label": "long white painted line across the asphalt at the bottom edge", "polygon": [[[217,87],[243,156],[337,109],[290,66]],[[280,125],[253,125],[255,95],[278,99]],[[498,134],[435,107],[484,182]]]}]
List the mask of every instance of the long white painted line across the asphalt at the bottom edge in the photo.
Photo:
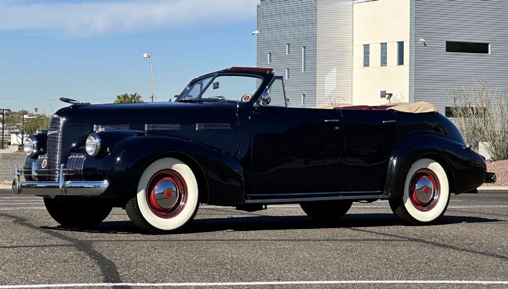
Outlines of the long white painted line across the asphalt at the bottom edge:
[{"label": "long white painted line across the asphalt at the bottom edge", "polygon": [[338,285],[338,284],[508,284],[508,281],[486,280],[340,280],[340,281],[263,281],[263,282],[188,282],[188,283],[74,283],[37,285],[0,285],[0,289],[62,288],[62,287],[201,287],[201,286],[263,286],[263,285]]}]

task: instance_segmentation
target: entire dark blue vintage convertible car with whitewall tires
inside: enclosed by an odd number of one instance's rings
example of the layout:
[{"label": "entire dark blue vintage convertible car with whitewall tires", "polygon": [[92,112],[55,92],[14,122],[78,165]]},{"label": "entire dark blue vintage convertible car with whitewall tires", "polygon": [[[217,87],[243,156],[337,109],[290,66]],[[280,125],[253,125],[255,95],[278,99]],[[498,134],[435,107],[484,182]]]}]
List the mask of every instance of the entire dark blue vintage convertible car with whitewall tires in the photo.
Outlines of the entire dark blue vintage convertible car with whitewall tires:
[{"label": "entire dark blue vintage convertible car with whitewall tires", "polygon": [[440,218],[450,194],[495,182],[432,105],[288,107],[283,79],[269,68],[204,75],[168,103],[62,100],[72,105],[25,140],[13,191],[44,197],[71,228],[122,207],[137,226],[169,232],[200,203],[246,211],[298,203],[333,222],[353,202],[384,199],[421,225]]}]

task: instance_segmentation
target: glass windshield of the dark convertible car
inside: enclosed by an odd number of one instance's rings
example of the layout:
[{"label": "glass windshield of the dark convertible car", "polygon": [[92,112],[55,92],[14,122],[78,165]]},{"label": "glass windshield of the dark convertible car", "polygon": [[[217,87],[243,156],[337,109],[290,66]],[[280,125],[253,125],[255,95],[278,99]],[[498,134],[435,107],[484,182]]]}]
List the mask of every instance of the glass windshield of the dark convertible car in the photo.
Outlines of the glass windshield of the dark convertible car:
[{"label": "glass windshield of the dark convertible car", "polygon": [[260,78],[250,76],[209,77],[192,84],[180,99],[193,99],[201,95],[200,99],[246,102],[256,93],[260,83]]}]

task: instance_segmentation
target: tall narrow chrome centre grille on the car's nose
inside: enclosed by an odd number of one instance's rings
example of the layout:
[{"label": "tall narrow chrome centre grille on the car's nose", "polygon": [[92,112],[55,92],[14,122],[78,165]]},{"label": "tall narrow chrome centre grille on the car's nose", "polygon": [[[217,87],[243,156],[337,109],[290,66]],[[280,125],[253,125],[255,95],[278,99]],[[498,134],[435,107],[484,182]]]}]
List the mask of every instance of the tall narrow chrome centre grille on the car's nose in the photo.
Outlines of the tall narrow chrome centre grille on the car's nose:
[{"label": "tall narrow chrome centre grille on the car's nose", "polygon": [[51,118],[51,124],[49,125],[48,139],[46,142],[47,147],[47,158],[48,180],[58,180],[58,171],[61,163],[61,150],[62,150],[62,124],[63,119],[57,115]]}]

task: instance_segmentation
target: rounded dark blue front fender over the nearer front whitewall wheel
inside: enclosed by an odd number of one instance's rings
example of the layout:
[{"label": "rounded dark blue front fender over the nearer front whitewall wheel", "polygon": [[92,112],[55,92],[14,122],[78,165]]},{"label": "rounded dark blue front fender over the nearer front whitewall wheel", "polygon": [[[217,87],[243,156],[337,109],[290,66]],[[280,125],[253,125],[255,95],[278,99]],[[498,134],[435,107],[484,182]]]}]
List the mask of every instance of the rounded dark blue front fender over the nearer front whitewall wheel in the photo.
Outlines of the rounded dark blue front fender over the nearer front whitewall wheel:
[{"label": "rounded dark blue front fender over the nearer front whitewall wheel", "polygon": [[[87,158],[88,171],[108,178],[110,197],[131,198],[145,168],[164,157],[183,159],[193,168],[198,181],[202,177],[209,204],[240,204],[245,200],[244,170],[230,154],[205,144],[170,136],[102,133],[107,151],[99,158]],[[190,163],[189,163],[190,162]],[[194,164],[193,164],[194,163]],[[193,166],[194,165],[194,166]],[[97,177],[97,176],[95,176]]]}]

